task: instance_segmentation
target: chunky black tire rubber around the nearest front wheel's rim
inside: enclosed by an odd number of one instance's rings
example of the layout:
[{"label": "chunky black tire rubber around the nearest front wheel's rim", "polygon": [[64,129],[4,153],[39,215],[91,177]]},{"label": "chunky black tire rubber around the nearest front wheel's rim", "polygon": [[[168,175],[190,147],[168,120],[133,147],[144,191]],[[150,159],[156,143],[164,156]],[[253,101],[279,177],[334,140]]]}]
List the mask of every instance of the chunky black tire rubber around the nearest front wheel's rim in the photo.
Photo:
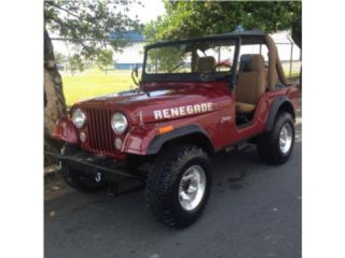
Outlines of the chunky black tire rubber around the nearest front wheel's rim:
[{"label": "chunky black tire rubber around the nearest front wheel's rim", "polygon": [[[199,204],[192,211],[186,211],[179,202],[179,183],[184,172],[194,165],[204,169],[206,186]],[[204,211],[211,183],[210,160],[203,149],[190,144],[166,147],[148,173],[146,203],[159,222],[172,228],[184,228],[196,222]]]}]

